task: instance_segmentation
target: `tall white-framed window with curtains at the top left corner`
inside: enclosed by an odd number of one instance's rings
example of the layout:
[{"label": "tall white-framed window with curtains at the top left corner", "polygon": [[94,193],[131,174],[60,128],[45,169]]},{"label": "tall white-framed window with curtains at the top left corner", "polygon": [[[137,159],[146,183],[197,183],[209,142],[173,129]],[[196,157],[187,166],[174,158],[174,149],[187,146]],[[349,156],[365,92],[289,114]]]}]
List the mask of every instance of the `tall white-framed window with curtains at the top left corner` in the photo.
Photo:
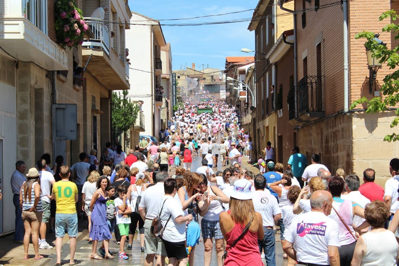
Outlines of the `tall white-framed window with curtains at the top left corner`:
[{"label": "tall white-framed window with curtains at the top left corner", "polygon": [[47,0],[22,0],[22,14],[47,34]]}]

